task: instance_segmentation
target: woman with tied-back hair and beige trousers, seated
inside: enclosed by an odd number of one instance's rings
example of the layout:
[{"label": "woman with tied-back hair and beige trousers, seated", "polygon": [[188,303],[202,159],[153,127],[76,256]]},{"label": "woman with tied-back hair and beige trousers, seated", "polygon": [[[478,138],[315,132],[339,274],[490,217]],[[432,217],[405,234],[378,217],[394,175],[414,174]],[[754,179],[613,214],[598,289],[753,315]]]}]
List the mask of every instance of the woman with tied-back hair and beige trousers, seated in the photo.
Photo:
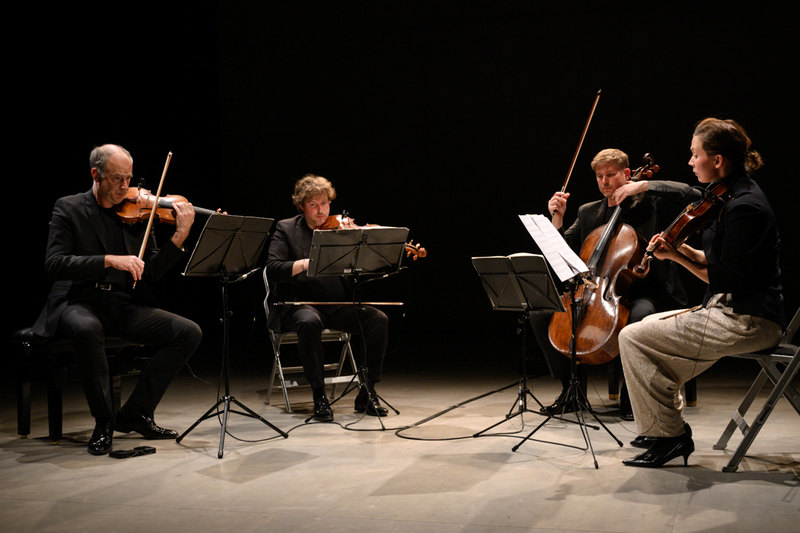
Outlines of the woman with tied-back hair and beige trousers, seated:
[{"label": "woman with tied-back hair and beige trousers, seated", "polygon": [[784,325],[779,233],[775,215],[750,177],[761,156],[733,120],[706,118],[691,141],[689,165],[700,183],[722,182],[730,200],[702,234],[702,249],[677,248],[661,234],[654,256],[670,260],[707,283],[702,308],[660,313],[625,327],[620,354],[639,437],[647,451],[623,461],[659,467],[694,451],[682,418],[680,387],[725,355],[776,344]]}]

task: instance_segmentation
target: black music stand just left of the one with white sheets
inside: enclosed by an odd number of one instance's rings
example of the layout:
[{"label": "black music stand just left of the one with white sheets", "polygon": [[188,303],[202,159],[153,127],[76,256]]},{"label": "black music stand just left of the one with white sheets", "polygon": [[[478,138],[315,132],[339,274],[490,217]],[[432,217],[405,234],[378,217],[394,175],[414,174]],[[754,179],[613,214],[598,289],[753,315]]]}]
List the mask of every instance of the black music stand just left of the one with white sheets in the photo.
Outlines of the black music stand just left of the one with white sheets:
[{"label": "black music stand just left of the one with white sheets", "polygon": [[[519,330],[522,332],[522,379],[518,383],[517,398],[503,420],[473,435],[473,437],[480,437],[515,416],[522,418],[524,413],[540,414],[538,411],[528,409],[528,397],[538,403],[541,409],[544,408],[544,405],[528,388],[528,371],[525,363],[528,348],[528,320],[533,311],[564,311],[564,306],[553,279],[550,277],[547,263],[541,255],[514,254],[508,257],[473,257],[472,266],[478,272],[489,302],[492,304],[492,309],[521,313],[518,323]],[[517,406],[516,411],[514,411],[515,405]]]}]

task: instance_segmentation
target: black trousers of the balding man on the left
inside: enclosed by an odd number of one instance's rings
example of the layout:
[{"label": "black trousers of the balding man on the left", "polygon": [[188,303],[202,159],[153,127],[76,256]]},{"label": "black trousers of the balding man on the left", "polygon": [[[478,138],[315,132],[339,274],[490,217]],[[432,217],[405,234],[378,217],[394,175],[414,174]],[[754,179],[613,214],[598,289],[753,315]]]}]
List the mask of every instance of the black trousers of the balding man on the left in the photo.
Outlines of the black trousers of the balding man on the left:
[{"label": "black trousers of the balding man on the left", "polygon": [[59,332],[75,340],[76,363],[89,410],[95,421],[113,421],[106,335],[158,346],[122,410],[153,417],[169,383],[202,339],[200,326],[156,307],[137,305],[119,292],[90,290],[70,304]]}]

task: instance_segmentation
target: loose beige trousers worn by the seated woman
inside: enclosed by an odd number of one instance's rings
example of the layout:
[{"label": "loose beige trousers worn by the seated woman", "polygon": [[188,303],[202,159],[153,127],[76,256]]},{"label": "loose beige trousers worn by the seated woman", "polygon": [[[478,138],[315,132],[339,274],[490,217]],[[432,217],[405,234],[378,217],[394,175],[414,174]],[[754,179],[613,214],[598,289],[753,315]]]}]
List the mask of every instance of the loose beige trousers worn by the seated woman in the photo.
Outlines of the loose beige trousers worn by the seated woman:
[{"label": "loose beige trousers worn by the seated woman", "polygon": [[717,294],[705,308],[656,313],[619,334],[622,369],[639,435],[684,433],[681,385],[726,355],[774,346],[782,331],[760,317],[739,315]]}]

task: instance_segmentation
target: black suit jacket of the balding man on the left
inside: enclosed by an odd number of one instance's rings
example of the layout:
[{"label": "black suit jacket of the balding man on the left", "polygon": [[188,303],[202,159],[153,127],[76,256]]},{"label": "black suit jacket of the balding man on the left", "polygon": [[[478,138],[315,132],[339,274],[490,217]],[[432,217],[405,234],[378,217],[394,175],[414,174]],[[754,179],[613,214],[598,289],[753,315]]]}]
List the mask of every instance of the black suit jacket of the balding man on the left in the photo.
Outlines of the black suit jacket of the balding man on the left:
[{"label": "black suit jacket of the balding man on the left", "polygon": [[[56,201],[50,219],[45,258],[45,271],[53,281],[53,287],[33,325],[35,335],[54,335],[67,305],[83,291],[94,287],[95,283],[105,280],[108,269],[104,261],[109,250],[104,226],[100,223],[99,217],[102,216],[91,190]],[[123,241],[128,254],[139,255],[145,229],[145,224],[123,227]],[[183,252],[171,242],[159,250],[151,232],[145,253],[143,279],[137,282],[134,290],[138,303],[156,305],[156,299],[147,287],[147,280],[161,278],[182,256]]]}]

